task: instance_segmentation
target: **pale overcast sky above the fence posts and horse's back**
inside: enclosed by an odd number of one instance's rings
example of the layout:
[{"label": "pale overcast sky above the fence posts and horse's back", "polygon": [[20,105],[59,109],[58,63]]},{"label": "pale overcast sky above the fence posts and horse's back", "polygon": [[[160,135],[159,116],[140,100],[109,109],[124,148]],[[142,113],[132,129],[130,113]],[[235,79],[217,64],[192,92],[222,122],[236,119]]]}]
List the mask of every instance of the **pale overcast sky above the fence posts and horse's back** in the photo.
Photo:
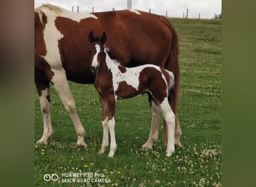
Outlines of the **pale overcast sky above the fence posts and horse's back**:
[{"label": "pale overcast sky above the fence posts and horse's back", "polygon": [[[67,10],[79,12],[94,12],[127,9],[127,0],[34,0],[34,7],[42,4],[55,4]],[[188,9],[189,18],[212,19],[215,14],[222,13],[222,0],[132,0],[132,9],[151,11],[169,17],[186,16]]]}]

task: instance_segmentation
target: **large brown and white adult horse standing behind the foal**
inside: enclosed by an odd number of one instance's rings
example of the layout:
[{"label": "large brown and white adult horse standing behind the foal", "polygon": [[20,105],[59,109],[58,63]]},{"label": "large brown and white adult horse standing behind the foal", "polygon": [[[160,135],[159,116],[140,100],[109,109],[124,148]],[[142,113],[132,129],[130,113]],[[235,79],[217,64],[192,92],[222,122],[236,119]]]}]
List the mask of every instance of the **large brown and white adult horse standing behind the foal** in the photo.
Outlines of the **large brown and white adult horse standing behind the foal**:
[{"label": "large brown and white adult horse standing behind the foal", "polygon": [[[106,45],[125,67],[151,63],[174,73],[175,87],[171,108],[177,116],[180,89],[178,39],[174,27],[163,16],[138,10],[102,13],[73,13],[52,4],[34,10],[34,82],[43,114],[43,136],[37,144],[46,144],[52,135],[49,83],[53,85],[76,129],[78,146],[87,146],[85,129],[76,113],[76,105],[67,79],[82,84],[94,83],[88,50],[88,34],[108,34]],[[152,102],[150,135],[142,146],[151,149],[158,139],[159,111]],[[164,142],[167,129],[164,122]],[[180,144],[180,126],[175,117],[175,145]]]}]

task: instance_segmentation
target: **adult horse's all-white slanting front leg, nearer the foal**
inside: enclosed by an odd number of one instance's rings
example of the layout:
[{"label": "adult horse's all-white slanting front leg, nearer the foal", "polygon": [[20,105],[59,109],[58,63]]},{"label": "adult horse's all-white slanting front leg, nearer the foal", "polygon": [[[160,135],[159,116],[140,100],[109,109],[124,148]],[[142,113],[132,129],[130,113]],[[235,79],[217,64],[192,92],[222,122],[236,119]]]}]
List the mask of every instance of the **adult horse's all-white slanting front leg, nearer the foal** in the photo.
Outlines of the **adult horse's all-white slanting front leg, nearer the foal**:
[{"label": "adult horse's all-white slanting front leg, nearer the foal", "polygon": [[51,82],[55,90],[58,92],[58,95],[60,96],[64,107],[70,114],[71,120],[73,121],[73,125],[76,129],[77,135],[76,145],[87,147],[84,141],[85,129],[82,126],[78,114],[76,113],[76,105],[67,82],[65,70],[53,70],[53,72],[55,73],[55,75],[52,77]]}]

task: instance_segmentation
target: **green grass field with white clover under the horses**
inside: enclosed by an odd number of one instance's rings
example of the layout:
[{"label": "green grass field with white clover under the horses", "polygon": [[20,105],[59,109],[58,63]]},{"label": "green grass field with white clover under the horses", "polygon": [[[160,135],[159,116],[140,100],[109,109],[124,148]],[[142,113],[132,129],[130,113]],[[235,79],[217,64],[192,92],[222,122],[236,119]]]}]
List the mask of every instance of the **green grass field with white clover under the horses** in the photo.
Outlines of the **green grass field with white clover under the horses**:
[{"label": "green grass field with white clover under the horses", "polygon": [[[88,149],[76,147],[73,123],[51,89],[53,135],[48,145],[34,148],[35,186],[222,186],[222,21],[189,19],[186,23],[183,19],[171,19],[171,22],[180,41],[178,117],[183,148],[165,157],[161,123],[159,141],[153,150],[140,150],[147,141],[151,120],[144,95],[118,101],[115,127],[118,150],[112,159],[108,158],[109,150],[98,155],[103,129],[97,92],[93,85],[70,82]],[[43,120],[36,91],[34,95],[36,142],[43,133]],[[80,179],[94,180],[65,183],[74,179],[65,176],[67,173],[81,173]],[[57,174],[59,179],[46,182],[45,174]]]}]

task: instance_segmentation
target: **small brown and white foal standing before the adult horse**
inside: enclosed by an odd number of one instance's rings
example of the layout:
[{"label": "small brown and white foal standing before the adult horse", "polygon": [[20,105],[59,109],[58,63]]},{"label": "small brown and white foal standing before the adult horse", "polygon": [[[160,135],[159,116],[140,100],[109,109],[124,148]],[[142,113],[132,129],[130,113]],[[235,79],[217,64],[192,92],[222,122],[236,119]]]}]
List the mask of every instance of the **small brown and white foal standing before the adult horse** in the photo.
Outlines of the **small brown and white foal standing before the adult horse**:
[{"label": "small brown and white foal standing before the adult horse", "polygon": [[168,99],[171,99],[171,89],[174,87],[174,74],[162,67],[147,64],[127,68],[109,57],[109,51],[104,46],[106,34],[101,39],[89,34],[91,42],[91,69],[96,71],[94,87],[100,94],[102,106],[103,144],[100,154],[109,145],[108,127],[111,136],[109,157],[113,157],[117,147],[115,141],[115,102],[140,93],[148,93],[149,98],[162,112],[168,128],[168,143],[166,156],[174,153],[175,115]]}]

